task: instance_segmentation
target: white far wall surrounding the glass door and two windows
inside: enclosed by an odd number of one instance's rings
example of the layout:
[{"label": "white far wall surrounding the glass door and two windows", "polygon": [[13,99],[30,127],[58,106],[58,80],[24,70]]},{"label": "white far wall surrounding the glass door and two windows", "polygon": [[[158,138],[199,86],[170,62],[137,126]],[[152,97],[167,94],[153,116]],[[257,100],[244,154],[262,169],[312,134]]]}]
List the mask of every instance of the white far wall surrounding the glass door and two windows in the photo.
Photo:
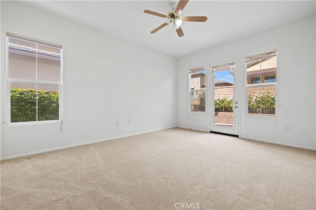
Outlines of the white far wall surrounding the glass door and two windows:
[{"label": "white far wall surrounding the glass door and two windows", "polygon": [[[239,137],[316,149],[315,16],[177,60],[178,126],[209,131],[208,114],[189,113],[188,70],[235,56],[239,71]],[[234,32],[233,32],[234,33]],[[209,35],[212,38],[212,35]],[[206,46],[205,46],[206,47]],[[276,118],[246,116],[244,57],[277,50]],[[208,81],[208,80],[206,80]],[[285,108],[289,113],[285,114]],[[285,131],[284,126],[289,130]]]}]

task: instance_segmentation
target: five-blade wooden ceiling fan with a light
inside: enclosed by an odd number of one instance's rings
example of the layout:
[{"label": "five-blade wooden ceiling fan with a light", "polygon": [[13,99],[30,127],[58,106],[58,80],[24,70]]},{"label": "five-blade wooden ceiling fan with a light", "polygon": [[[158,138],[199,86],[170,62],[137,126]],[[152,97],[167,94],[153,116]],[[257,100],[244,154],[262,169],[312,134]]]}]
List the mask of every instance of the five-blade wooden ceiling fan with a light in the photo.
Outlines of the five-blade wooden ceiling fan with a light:
[{"label": "five-blade wooden ceiling fan with a light", "polygon": [[167,15],[160,14],[158,12],[154,12],[151,10],[144,10],[145,13],[151,14],[151,15],[156,15],[159,17],[163,17],[168,19],[167,22],[161,24],[158,26],[156,29],[151,31],[151,34],[154,34],[158,32],[160,29],[163,27],[169,25],[170,29],[176,30],[177,34],[179,37],[183,36],[184,33],[181,29],[181,24],[182,21],[191,21],[191,22],[205,22],[207,20],[207,17],[205,16],[181,16],[180,13],[183,11],[184,7],[187,5],[189,0],[179,0],[178,5],[175,7],[175,3],[172,3],[171,9],[168,11]]}]

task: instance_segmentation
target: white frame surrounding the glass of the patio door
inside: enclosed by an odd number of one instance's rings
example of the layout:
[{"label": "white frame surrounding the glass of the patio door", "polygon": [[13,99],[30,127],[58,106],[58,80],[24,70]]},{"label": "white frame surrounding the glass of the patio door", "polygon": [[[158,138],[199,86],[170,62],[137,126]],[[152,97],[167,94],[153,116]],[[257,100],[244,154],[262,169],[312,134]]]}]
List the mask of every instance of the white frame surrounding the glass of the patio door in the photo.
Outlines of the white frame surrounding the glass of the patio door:
[{"label": "white frame surrounding the glass of the patio door", "polygon": [[[214,77],[212,67],[235,63],[234,70],[234,126],[220,126],[214,124]],[[240,56],[224,60],[210,62],[208,64],[208,84],[209,84],[209,131],[223,133],[233,136],[240,135]],[[235,104],[237,102],[237,104]],[[237,106],[237,108],[235,108]]]}]

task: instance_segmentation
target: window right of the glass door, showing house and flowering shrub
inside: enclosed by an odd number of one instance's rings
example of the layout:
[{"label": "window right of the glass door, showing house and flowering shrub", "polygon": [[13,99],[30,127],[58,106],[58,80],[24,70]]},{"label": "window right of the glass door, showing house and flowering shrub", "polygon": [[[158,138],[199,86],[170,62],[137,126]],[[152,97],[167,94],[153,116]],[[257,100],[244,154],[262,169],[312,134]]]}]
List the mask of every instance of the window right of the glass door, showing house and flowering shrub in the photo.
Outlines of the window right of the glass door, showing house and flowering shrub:
[{"label": "window right of the glass door, showing house and flowering shrub", "polygon": [[276,116],[276,51],[245,58],[248,115]]}]

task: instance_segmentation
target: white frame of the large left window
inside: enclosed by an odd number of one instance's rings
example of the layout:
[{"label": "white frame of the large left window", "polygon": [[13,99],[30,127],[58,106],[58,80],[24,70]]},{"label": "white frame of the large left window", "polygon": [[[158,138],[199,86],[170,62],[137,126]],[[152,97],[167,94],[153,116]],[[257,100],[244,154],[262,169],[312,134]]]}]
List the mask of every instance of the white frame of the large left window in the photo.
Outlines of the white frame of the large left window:
[{"label": "white frame of the large left window", "polygon": [[[61,50],[61,55],[60,55],[60,62],[61,62],[61,67],[60,67],[60,82],[47,82],[47,81],[39,81],[39,80],[25,80],[25,79],[10,79],[9,78],[9,69],[8,69],[8,54],[9,54],[9,46],[8,46],[8,39],[9,38],[14,38],[14,39],[19,39],[22,41],[28,41],[32,42],[35,44],[40,44],[40,45],[46,45],[49,47],[55,47],[59,48]],[[22,35],[16,35],[12,33],[6,33],[6,71],[5,71],[5,93],[6,93],[6,112],[5,112],[5,119],[6,119],[6,125],[9,126],[16,126],[16,125],[34,125],[34,124],[47,124],[47,123],[62,123],[63,122],[63,46],[59,44],[54,44],[46,41],[42,41],[39,39],[34,39]],[[38,56],[37,56],[38,58]],[[38,70],[37,70],[38,74]],[[12,82],[20,82],[20,83],[29,83],[29,84],[35,84],[35,85],[56,85],[59,86],[59,119],[58,120],[36,120],[36,121],[27,121],[27,122],[11,122],[11,87],[10,84]]]}]

